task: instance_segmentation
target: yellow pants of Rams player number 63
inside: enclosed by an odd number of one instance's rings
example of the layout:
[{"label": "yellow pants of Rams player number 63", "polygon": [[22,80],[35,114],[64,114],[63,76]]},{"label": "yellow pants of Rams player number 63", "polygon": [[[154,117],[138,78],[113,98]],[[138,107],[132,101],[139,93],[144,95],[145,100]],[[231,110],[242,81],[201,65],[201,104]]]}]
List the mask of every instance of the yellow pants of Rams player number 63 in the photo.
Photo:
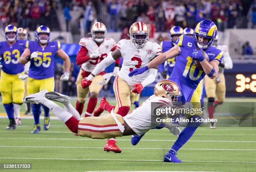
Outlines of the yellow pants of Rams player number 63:
[{"label": "yellow pants of Rams player number 63", "polygon": [[2,70],[0,76],[0,92],[3,104],[12,102],[21,104],[23,103],[25,84],[19,78],[18,74],[10,75]]}]

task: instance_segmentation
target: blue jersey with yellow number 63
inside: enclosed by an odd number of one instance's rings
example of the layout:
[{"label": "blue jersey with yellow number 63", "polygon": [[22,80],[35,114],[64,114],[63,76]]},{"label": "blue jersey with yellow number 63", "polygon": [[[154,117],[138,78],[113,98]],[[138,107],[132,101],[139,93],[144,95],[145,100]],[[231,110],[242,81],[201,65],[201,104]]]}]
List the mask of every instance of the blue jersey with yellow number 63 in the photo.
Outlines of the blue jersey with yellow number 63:
[{"label": "blue jersey with yellow number 63", "polygon": [[2,70],[5,73],[14,75],[24,70],[24,65],[21,65],[19,60],[25,49],[25,44],[25,40],[17,40],[13,45],[9,45],[7,41],[0,42]]}]

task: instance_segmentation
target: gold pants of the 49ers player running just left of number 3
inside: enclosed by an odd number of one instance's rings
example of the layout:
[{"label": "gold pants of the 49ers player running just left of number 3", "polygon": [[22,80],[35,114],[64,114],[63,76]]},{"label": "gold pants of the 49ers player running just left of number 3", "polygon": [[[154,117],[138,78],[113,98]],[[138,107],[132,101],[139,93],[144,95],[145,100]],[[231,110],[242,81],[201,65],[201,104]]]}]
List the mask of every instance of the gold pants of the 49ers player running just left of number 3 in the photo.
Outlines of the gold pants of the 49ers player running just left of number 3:
[{"label": "gold pants of the 49ers player running just left of number 3", "polygon": [[89,87],[83,89],[82,86],[81,86],[81,81],[84,79],[82,77],[82,72],[83,72],[83,70],[80,69],[78,77],[77,77],[77,82],[76,82],[76,85],[77,85],[77,100],[78,100],[79,103],[84,103],[85,102],[86,98],[88,97],[89,92],[90,93],[92,93],[92,92],[99,93],[102,86],[103,86],[103,85],[100,85],[100,84],[97,83],[97,82],[102,82],[103,81],[103,76],[102,75],[97,75],[93,78],[91,85]]}]

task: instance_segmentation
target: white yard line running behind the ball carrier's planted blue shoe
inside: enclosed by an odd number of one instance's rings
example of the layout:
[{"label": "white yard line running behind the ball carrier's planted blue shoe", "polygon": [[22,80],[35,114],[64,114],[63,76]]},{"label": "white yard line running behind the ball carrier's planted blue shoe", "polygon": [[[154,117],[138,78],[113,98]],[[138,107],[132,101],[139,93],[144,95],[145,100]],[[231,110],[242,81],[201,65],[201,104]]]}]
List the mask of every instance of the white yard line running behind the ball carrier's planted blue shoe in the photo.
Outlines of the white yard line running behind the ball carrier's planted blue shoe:
[{"label": "white yard line running behind the ball carrier's planted blue shoe", "polygon": [[[163,162],[163,160],[123,160],[123,159],[77,159],[77,158],[35,158],[35,157],[0,157],[0,159],[19,159],[19,160],[102,160],[102,161],[152,161],[152,162]],[[183,162],[226,162],[226,163],[256,163],[253,161],[191,161],[183,160]]]}]

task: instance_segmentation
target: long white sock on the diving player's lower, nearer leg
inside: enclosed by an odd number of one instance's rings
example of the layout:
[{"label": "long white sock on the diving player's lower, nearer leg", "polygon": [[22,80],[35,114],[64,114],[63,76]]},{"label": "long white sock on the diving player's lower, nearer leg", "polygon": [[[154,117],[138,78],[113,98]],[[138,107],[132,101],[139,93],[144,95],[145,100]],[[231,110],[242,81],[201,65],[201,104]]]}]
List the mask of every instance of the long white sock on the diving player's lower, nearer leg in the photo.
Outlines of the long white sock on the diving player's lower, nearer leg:
[{"label": "long white sock on the diving player's lower, nearer leg", "polygon": [[56,115],[56,117],[58,117],[64,123],[73,116],[68,111],[64,110],[62,107],[51,100],[46,99],[45,97],[42,97],[39,102],[48,107],[54,113],[54,115]]}]

